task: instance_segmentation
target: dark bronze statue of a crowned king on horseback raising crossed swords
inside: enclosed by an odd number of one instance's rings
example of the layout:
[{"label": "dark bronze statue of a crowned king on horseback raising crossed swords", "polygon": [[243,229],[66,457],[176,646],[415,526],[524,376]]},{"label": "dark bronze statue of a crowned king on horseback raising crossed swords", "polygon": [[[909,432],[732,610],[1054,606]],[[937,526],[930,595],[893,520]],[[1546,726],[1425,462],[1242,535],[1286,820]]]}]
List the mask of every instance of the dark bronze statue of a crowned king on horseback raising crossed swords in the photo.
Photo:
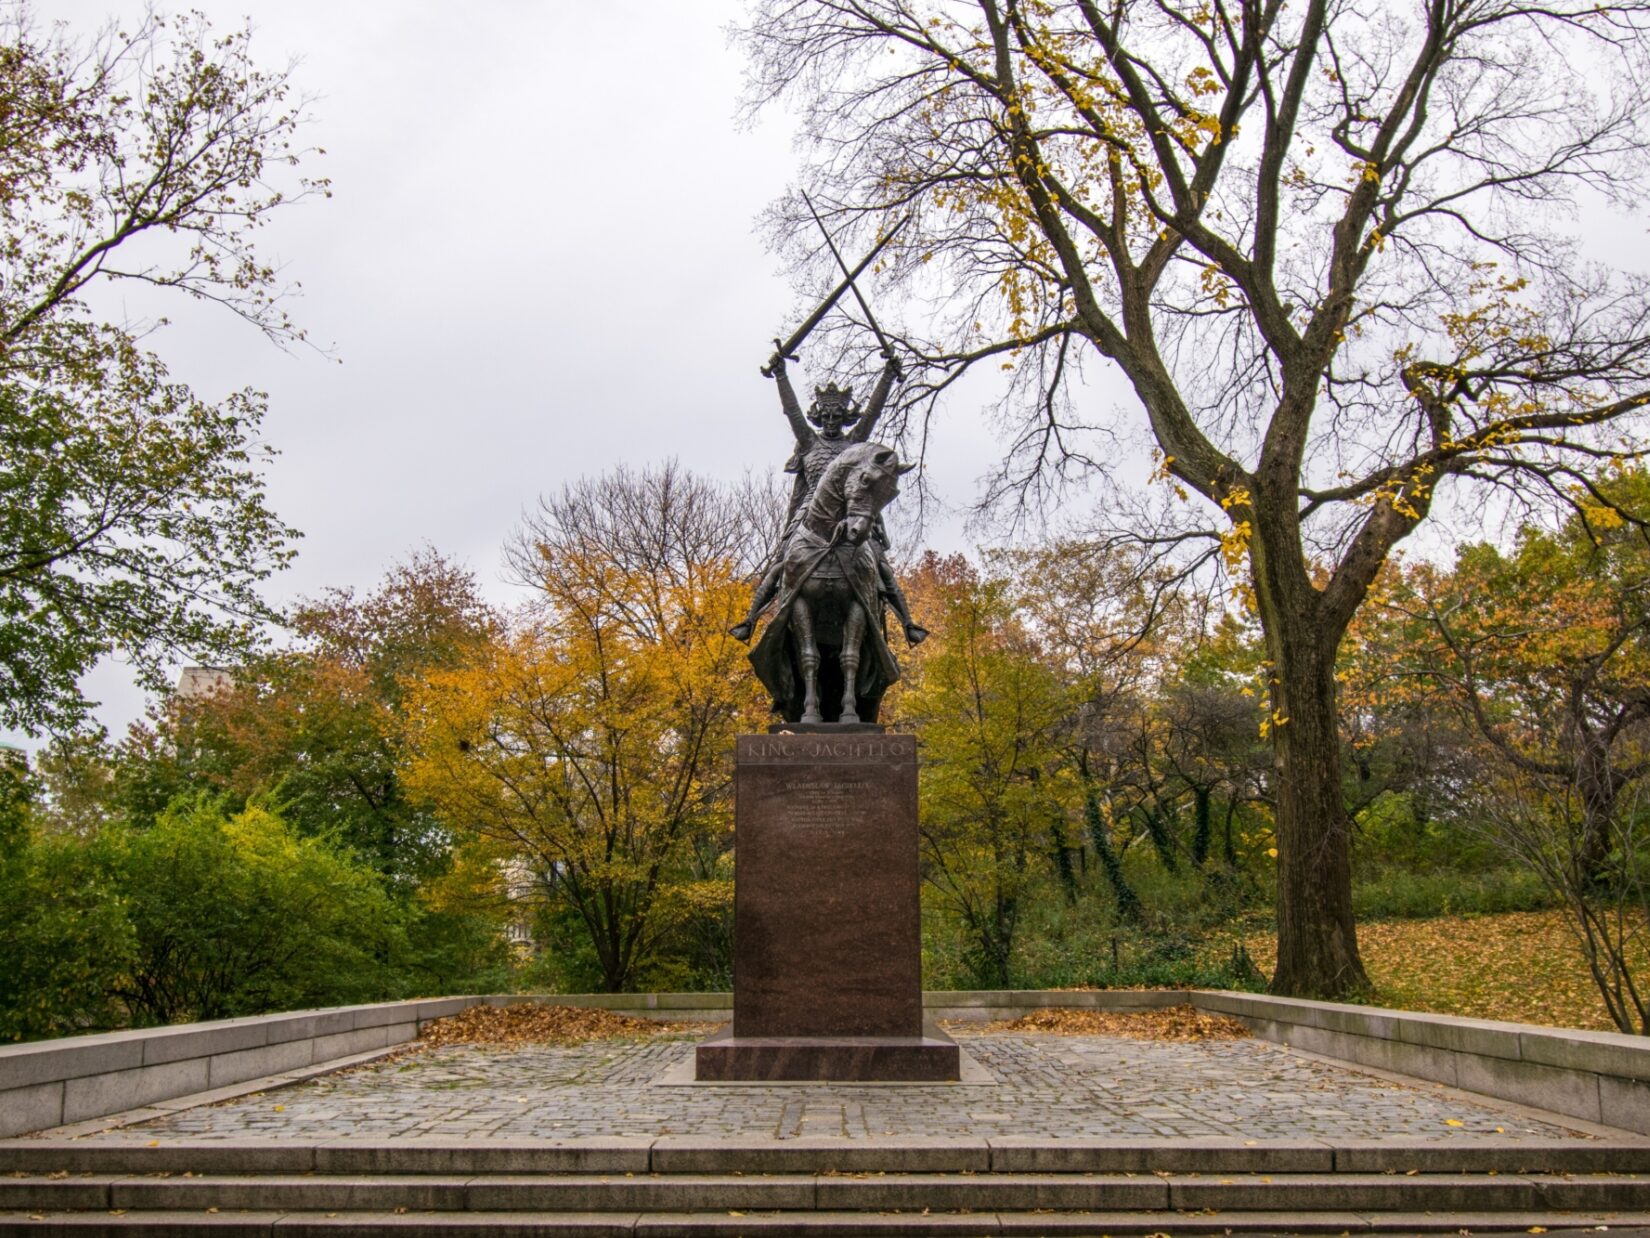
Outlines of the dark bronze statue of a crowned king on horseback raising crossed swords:
[{"label": "dark bronze statue of a crowned king on horseback raising crossed swords", "polygon": [[[901,474],[916,465],[901,464],[893,447],[871,442],[876,419],[901,376],[899,361],[853,282],[893,236],[888,233],[848,271],[827,233],[825,241],[846,277],[789,340],[774,342],[774,355],[762,366],[762,375],[779,386],[779,403],[795,436],[795,451],[785,464],[795,482],[789,520],[749,614],[729,632],[749,640],[762,611],[779,602],[751,650],[751,665],[772,695],[774,711],[787,723],[876,721],[883,693],[899,678],[899,664],[888,647],[884,607],[894,611],[908,644],[927,636],[911,617],[888,566],[888,530],[881,518],[883,507],[899,494]],[[795,360],[795,348],[846,291],[853,291],[876,332],[883,373],[863,409],[853,403],[851,390],[832,383],[813,390],[813,403],[804,414],[785,361]]]}]

